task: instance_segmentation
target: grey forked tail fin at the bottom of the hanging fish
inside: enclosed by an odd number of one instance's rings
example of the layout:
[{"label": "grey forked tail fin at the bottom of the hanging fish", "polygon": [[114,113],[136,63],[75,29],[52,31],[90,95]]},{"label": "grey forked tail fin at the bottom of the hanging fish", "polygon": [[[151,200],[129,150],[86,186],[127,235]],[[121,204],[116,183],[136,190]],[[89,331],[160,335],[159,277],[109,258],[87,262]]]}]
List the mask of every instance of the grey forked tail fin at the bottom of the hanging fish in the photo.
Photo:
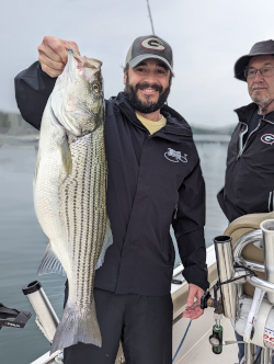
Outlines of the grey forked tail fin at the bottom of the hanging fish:
[{"label": "grey forked tail fin at the bottom of the hanging fish", "polygon": [[55,332],[50,354],[78,342],[102,346],[94,298],[88,309],[76,305],[70,306],[69,302],[67,303]]}]

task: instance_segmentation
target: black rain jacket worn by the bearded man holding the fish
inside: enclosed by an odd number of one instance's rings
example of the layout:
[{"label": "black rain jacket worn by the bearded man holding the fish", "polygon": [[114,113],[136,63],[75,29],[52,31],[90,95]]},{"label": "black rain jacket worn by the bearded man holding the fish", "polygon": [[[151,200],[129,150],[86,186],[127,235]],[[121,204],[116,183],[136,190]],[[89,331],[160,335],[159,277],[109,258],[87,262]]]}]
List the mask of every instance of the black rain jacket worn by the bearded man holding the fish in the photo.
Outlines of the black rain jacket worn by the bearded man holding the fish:
[{"label": "black rain jacket worn by the bearded man holding the fish", "polygon": [[[15,78],[18,106],[37,129],[55,81],[39,62]],[[203,289],[208,287],[205,185],[192,130],[171,107],[163,106],[161,113],[167,125],[149,135],[123,93],[105,101],[107,214],[114,242],[96,271],[99,288],[169,294],[175,255],[171,224],[184,277]]]}]

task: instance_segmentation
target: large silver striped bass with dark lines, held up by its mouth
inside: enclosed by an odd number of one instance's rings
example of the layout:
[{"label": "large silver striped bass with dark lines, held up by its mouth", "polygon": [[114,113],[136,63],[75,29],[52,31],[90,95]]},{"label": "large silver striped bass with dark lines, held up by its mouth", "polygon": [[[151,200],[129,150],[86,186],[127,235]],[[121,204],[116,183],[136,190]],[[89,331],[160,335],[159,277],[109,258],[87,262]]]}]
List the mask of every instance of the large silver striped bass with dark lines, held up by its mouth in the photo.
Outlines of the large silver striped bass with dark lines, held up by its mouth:
[{"label": "large silver striped bass with dark lines, held up by its mouth", "polygon": [[68,49],[42,120],[34,206],[49,243],[38,275],[59,273],[69,283],[50,353],[78,342],[102,345],[93,284],[112,232],[101,65]]}]

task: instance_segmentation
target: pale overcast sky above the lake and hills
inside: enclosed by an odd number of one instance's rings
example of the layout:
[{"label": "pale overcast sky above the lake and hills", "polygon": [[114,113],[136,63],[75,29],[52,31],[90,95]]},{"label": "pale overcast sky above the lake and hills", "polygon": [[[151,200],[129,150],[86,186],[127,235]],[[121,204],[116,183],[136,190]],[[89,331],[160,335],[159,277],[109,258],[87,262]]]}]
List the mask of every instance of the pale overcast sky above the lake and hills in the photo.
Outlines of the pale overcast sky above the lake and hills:
[{"label": "pale overcast sky above the lake and hills", "polygon": [[[37,59],[44,35],[78,43],[103,61],[105,96],[123,90],[126,53],[151,34],[146,0],[0,0],[0,110],[18,111],[13,78]],[[236,60],[274,37],[273,0],[150,0],[156,34],[173,48],[169,105],[191,125],[237,122],[233,109],[250,102],[233,78]]]}]

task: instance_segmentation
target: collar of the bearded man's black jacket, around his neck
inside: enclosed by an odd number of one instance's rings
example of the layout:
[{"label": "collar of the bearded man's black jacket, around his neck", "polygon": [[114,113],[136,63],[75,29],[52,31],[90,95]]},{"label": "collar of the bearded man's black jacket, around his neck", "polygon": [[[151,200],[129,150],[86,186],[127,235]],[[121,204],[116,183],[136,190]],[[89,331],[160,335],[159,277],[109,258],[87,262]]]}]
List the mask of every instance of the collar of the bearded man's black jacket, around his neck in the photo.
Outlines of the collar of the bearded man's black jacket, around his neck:
[{"label": "collar of the bearded man's black jacket, around his neck", "polygon": [[[112,100],[118,105],[118,107],[124,112],[124,114],[133,124],[135,124],[137,127],[146,129],[136,116],[134,109],[130,106],[123,92],[119,92],[118,95],[116,98],[112,98]],[[174,137],[179,137],[180,140],[178,141],[181,141],[180,136],[182,135],[192,136],[190,125],[173,109],[168,105],[163,105],[161,109],[161,114],[167,118],[167,125],[160,129],[159,135],[164,135],[163,137],[169,139],[171,138],[171,135],[173,135],[172,139],[174,139]],[[170,135],[170,137],[168,135]]]}]

